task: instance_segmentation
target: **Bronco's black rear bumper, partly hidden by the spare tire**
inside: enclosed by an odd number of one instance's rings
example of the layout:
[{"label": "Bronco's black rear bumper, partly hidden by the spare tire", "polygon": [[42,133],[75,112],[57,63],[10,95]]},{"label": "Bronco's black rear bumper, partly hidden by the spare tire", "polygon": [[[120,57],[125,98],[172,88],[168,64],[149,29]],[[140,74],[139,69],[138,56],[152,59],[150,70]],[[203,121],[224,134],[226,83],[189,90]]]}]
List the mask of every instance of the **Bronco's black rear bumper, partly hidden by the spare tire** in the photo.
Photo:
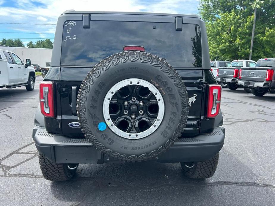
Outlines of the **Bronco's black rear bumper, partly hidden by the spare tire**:
[{"label": "Bronco's black rear bumper, partly hidden by the spare tire", "polygon": [[[56,163],[117,162],[101,153],[85,138],[49,134],[44,127],[38,126],[33,129],[32,137],[37,150]],[[224,138],[225,129],[216,127],[208,134],[179,139],[166,153],[158,156],[156,161],[168,163],[208,160],[221,150]]]}]

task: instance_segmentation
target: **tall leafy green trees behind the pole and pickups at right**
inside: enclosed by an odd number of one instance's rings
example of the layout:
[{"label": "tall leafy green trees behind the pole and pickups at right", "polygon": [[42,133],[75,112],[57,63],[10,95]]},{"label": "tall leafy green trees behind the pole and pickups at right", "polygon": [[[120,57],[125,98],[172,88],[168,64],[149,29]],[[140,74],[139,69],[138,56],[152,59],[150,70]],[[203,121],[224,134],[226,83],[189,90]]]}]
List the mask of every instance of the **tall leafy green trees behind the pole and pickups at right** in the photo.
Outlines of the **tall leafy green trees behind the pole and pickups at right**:
[{"label": "tall leafy green trees behind the pole and pickups at right", "polygon": [[275,1],[201,0],[211,59],[248,59],[255,4],[257,9],[252,59],[274,57]]}]

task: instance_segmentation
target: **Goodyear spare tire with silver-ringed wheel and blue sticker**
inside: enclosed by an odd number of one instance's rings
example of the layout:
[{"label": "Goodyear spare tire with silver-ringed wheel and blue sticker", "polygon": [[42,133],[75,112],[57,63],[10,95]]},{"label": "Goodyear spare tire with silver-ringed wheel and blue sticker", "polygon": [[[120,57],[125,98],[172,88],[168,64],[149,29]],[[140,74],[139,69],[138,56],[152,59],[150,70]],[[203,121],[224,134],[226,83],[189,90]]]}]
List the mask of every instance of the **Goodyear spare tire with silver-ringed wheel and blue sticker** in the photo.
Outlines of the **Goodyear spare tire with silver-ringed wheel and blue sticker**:
[{"label": "Goodyear spare tire with silver-ringed wheel and blue sticker", "polygon": [[151,159],[180,137],[188,93],[176,70],[145,52],[109,56],[87,74],[77,96],[82,132],[95,147],[125,161]]}]

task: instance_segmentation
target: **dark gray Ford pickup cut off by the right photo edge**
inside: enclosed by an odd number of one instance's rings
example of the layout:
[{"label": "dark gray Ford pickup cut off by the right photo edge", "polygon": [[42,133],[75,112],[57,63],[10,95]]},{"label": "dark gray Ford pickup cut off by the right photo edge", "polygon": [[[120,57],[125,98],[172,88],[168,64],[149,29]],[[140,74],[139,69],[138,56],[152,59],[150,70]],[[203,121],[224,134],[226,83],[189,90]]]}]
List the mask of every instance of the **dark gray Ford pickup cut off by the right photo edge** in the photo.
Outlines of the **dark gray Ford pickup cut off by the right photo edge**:
[{"label": "dark gray Ford pickup cut off by the right photo edge", "polygon": [[255,96],[275,93],[275,58],[259,59],[255,67],[242,68],[238,84],[250,88]]}]

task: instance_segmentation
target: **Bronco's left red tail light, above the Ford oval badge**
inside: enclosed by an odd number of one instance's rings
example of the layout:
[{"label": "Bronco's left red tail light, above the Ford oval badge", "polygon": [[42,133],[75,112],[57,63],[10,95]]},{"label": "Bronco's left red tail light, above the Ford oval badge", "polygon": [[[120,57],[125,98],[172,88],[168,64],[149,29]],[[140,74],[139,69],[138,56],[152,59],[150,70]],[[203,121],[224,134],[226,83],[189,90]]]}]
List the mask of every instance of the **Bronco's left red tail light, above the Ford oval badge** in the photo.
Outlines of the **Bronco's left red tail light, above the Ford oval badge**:
[{"label": "Bronco's left red tail light, above the Ford oval badge", "polygon": [[45,117],[55,117],[54,112],[54,83],[40,82],[40,110]]}]

